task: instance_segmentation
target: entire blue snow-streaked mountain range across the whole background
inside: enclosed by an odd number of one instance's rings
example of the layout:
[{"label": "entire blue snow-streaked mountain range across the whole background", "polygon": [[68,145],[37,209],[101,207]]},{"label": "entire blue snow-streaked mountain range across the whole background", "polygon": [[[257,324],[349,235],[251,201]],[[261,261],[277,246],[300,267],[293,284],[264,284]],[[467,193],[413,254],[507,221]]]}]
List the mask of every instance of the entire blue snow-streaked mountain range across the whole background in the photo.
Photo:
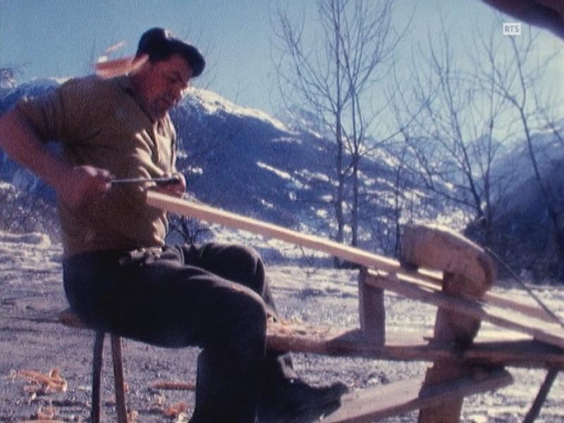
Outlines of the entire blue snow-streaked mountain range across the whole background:
[{"label": "entire blue snow-streaked mountain range across the whole background", "polygon": [[[0,111],[6,111],[23,96],[42,94],[61,82],[35,80],[2,88]],[[188,189],[199,200],[299,231],[329,236],[336,233],[335,147],[329,140],[196,88],[173,109],[171,117],[180,145],[178,168],[188,180]],[[428,144],[431,148],[432,143]],[[541,171],[564,197],[560,171],[564,161],[562,141],[547,129],[534,135],[534,145]],[[54,202],[50,188],[6,159],[1,151],[0,164],[0,180]],[[539,197],[539,186],[532,180],[524,143],[506,149],[493,173],[501,175],[508,168],[516,171],[503,202],[497,205],[497,238],[503,239],[503,245],[498,247],[519,266],[525,262],[528,267],[537,266],[534,257],[553,257],[553,253],[547,256],[544,248],[551,227]],[[379,149],[362,158],[360,247],[393,254],[399,212],[403,213],[403,221],[434,221],[440,217],[441,223],[460,228],[460,212],[444,209],[444,204],[432,194],[416,190],[408,181],[402,183],[401,189],[410,203],[398,205],[396,170],[397,161]],[[350,202],[350,190],[345,195]],[[455,219],[459,219],[456,224]],[[518,250],[522,245],[526,247]],[[525,256],[533,258],[523,260]],[[548,261],[553,262],[553,258]]]}]

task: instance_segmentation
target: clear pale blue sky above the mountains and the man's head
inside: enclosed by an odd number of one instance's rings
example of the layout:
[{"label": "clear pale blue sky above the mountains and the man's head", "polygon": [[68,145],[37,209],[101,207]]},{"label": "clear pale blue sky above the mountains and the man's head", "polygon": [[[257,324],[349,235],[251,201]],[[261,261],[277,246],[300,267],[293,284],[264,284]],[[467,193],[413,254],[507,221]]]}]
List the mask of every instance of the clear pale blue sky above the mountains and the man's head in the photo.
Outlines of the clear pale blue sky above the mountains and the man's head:
[{"label": "clear pale blue sky above the mountains and the man's head", "polygon": [[[20,67],[20,81],[85,75],[92,59],[107,47],[125,41],[118,54],[133,54],[142,32],[163,26],[207,54],[209,72],[197,85],[274,113],[278,92],[271,63],[271,16],[277,4],[278,0],[0,0],[0,66]],[[314,18],[313,0],[282,4],[296,16],[306,13]],[[416,4],[404,51],[439,25],[441,16],[458,33],[453,42],[460,49],[476,25],[489,27],[496,18],[479,0],[398,0],[396,25],[405,23]],[[548,34],[544,39],[547,48],[562,44]]]}]

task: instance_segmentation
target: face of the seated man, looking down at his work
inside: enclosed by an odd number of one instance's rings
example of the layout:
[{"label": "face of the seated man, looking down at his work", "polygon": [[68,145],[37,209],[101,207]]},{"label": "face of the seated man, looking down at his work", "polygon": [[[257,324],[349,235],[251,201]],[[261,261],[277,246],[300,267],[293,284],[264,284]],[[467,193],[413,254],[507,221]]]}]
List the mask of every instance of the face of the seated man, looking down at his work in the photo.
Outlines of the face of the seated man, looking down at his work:
[{"label": "face of the seated man, looking down at his work", "polygon": [[182,56],[173,54],[168,60],[147,63],[143,71],[139,90],[147,112],[154,119],[164,118],[182,99],[192,69]]}]

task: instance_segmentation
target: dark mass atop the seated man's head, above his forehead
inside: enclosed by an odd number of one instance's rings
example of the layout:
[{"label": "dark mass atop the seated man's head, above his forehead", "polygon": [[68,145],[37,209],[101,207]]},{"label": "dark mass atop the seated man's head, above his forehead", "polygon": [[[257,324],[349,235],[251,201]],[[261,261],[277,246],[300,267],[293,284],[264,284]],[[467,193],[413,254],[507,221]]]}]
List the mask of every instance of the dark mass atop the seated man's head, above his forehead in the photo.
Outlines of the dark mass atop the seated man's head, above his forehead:
[{"label": "dark mass atop the seated man's head, above his forehead", "polygon": [[148,54],[152,63],[168,59],[173,54],[180,54],[192,68],[192,77],[201,75],[206,67],[204,56],[196,47],[173,37],[168,30],[152,28],[139,40],[137,56]]}]

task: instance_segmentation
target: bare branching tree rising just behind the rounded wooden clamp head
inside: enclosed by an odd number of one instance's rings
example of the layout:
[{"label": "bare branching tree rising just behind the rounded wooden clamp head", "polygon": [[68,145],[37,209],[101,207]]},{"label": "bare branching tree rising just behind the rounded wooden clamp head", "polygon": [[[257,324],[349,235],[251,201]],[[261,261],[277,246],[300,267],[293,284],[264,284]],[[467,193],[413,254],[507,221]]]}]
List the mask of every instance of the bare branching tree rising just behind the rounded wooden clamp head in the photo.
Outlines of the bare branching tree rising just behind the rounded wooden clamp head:
[{"label": "bare branching tree rising just behind the rounded wooden clamp head", "polygon": [[495,204],[509,184],[507,175],[492,172],[502,141],[494,133],[503,133],[507,106],[491,82],[477,78],[479,59],[473,69],[460,66],[449,38],[444,29],[439,42],[429,37],[429,56],[413,66],[411,102],[401,97],[396,106],[410,120],[402,131],[412,157],[405,164],[422,187],[478,221],[489,244]]}]

